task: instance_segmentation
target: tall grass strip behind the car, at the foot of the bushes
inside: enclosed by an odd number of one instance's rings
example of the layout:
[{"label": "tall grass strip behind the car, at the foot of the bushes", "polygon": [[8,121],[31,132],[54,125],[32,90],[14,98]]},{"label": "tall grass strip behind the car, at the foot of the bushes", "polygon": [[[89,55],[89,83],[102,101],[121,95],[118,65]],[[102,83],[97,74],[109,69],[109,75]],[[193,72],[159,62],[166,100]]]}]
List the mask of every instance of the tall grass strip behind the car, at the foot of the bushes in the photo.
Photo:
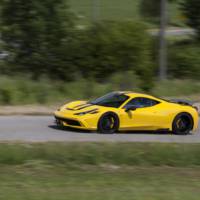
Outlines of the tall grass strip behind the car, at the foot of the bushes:
[{"label": "tall grass strip behind the car, at the foot of the bushes", "polygon": [[[126,77],[126,79],[124,79]],[[28,78],[0,77],[0,105],[57,105],[71,100],[93,99],[111,91],[144,92],[141,80],[133,73],[115,74],[104,83],[79,79],[74,82]],[[200,100],[200,82],[195,80],[169,80],[155,82],[149,92],[158,97],[184,97]]]}]

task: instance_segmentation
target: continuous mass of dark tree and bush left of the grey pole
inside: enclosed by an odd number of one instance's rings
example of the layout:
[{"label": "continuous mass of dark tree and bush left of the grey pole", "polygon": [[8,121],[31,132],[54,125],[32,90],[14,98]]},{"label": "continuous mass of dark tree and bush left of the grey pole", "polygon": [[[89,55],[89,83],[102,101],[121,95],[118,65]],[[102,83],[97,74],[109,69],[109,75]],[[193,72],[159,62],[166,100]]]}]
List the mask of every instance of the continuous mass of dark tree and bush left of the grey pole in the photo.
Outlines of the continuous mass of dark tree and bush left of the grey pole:
[{"label": "continuous mass of dark tree and bush left of the grey pole", "polygon": [[107,21],[80,29],[65,0],[1,4],[2,41],[9,52],[1,73],[104,83],[114,73],[132,71],[145,80],[142,89],[152,87],[151,37],[144,23]]}]

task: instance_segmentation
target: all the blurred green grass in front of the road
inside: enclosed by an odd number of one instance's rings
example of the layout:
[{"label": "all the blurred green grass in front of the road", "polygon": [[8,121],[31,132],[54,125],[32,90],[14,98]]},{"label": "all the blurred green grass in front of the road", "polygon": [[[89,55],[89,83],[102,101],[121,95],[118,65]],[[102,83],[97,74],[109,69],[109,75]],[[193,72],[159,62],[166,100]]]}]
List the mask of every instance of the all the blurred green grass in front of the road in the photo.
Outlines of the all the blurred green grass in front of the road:
[{"label": "all the blurred green grass in front of the road", "polygon": [[198,200],[199,144],[0,145],[0,199]]}]

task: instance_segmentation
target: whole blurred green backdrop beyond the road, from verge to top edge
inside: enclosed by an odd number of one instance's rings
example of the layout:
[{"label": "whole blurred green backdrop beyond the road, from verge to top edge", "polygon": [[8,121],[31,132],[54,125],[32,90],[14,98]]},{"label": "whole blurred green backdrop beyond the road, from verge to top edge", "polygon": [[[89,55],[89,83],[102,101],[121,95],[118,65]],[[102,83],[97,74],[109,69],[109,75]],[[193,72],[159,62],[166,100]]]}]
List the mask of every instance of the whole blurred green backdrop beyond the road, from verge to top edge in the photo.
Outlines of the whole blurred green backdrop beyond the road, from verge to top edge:
[{"label": "whole blurred green backdrop beyond the road, from verge to top edge", "polygon": [[0,0],[0,104],[113,90],[198,100],[199,10],[199,0]]}]

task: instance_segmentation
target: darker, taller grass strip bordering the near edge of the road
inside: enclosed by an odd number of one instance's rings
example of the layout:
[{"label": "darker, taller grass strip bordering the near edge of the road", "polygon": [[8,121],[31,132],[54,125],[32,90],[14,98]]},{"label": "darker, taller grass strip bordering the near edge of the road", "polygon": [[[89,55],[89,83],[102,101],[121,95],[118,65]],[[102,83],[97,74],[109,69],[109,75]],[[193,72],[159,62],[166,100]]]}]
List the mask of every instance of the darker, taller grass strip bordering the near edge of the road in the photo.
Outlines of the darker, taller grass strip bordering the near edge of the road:
[{"label": "darker, taller grass strip bordering the near edge of the road", "polygon": [[79,166],[200,166],[200,144],[46,143],[1,144],[0,164]]}]

